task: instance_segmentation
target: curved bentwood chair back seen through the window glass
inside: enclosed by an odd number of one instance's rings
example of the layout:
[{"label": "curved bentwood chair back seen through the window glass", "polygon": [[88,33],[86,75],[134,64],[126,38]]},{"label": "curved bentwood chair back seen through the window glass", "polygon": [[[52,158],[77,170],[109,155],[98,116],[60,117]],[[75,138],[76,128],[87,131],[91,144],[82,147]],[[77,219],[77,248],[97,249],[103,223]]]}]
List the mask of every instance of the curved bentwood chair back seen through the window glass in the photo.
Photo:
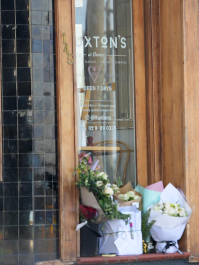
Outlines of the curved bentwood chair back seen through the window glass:
[{"label": "curved bentwood chair back seen through the window glass", "polygon": [[[117,175],[117,171],[118,171],[118,167],[120,164],[120,161],[122,159],[122,154],[123,153],[127,153],[127,157],[126,157],[126,162],[125,162],[125,166],[124,166],[124,170],[123,170],[123,176],[122,176],[122,183],[123,185],[125,185],[125,179],[126,179],[126,171],[127,171],[127,167],[128,167],[128,163],[129,163],[129,159],[130,159],[130,152],[132,152],[133,150],[130,150],[130,147],[122,141],[119,140],[104,140],[104,141],[99,141],[93,144],[93,146],[105,146],[105,145],[111,145],[111,146],[118,146],[120,151],[119,152],[119,157],[118,157],[118,161],[116,164],[116,168],[115,168],[115,174],[114,174],[114,182],[116,181],[116,175]],[[98,157],[99,159],[99,157]],[[100,161],[100,159],[99,159]],[[101,164],[101,162],[100,162]],[[101,164],[102,166],[102,164]]]}]

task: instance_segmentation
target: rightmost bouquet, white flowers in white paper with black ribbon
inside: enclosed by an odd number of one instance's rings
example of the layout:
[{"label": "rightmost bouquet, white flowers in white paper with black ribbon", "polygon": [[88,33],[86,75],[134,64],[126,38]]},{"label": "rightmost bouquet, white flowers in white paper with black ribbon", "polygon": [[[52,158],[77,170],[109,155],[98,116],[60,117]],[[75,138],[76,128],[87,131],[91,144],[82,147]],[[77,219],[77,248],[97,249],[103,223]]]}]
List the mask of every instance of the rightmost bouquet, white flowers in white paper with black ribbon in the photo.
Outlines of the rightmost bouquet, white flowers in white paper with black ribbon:
[{"label": "rightmost bouquet, white flowers in white paper with black ribbon", "polygon": [[149,222],[155,220],[150,233],[157,252],[174,253],[179,251],[177,241],[182,237],[192,210],[186,198],[169,183],[160,195],[158,204],[150,207]]}]

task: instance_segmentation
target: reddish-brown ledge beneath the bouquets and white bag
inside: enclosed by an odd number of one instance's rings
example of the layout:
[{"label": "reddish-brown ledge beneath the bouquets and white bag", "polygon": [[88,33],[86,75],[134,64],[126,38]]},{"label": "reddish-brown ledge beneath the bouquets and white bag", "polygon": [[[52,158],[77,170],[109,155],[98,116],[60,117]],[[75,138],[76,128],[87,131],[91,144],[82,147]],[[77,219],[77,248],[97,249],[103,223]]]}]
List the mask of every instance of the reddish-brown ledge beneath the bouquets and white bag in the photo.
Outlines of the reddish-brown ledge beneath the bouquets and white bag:
[{"label": "reddish-brown ledge beneath the bouquets and white bag", "polygon": [[123,263],[123,262],[133,262],[133,261],[154,261],[154,260],[164,260],[164,259],[188,259],[191,255],[190,252],[183,252],[183,255],[176,253],[171,254],[156,254],[148,253],[142,255],[132,255],[132,256],[115,256],[115,257],[79,257],[77,258],[77,264],[103,264],[103,263]]}]

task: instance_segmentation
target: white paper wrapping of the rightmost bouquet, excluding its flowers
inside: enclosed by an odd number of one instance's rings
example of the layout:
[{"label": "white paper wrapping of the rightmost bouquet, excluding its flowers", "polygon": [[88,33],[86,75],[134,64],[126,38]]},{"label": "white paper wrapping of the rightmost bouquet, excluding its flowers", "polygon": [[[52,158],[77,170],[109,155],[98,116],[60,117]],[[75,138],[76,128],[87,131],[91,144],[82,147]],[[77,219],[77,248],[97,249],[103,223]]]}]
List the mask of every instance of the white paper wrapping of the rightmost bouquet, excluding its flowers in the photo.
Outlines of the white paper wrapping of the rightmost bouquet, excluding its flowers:
[{"label": "white paper wrapping of the rightmost bouquet, excluding its flowers", "polygon": [[[160,201],[158,204],[165,203],[166,201],[171,203],[179,203],[182,207],[185,208],[185,211],[188,216],[186,217],[175,217],[160,214],[158,211],[154,211],[152,208],[154,205],[151,205],[148,208],[151,208],[150,217],[148,222],[155,220],[155,224],[152,226],[150,233],[153,239],[157,242],[161,241],[178,241],[184,232],[186,223],[188,222],[192,210],[182,194],[171,184],[169,183],[167,187],[163,190],[160,195]],[[157,249],[159,250],[162,247],[161,244],[157,244]],[[172,249],[172,250],[171,250]],[[171,252],[173,251],[173,252]],[[177,248],[170,247],[167,249],[166,253],[177,252]]]}]

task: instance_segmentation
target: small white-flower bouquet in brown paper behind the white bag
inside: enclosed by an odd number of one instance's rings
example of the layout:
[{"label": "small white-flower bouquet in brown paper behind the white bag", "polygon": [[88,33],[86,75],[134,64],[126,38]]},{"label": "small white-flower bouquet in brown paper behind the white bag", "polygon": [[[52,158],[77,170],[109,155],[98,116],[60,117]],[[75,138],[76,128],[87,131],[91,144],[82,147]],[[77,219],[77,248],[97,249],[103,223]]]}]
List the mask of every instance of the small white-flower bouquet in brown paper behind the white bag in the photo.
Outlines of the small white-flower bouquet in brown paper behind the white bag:
[{"label": "small white-flower bouquet in brown paper behind the white bag", "polygon": [[119,189],[119,192],[113,195],[114,199],[120,207],[136,205],[140,210],[142,209],[142,196],[139,192],[132,188],[130,181]]}]

